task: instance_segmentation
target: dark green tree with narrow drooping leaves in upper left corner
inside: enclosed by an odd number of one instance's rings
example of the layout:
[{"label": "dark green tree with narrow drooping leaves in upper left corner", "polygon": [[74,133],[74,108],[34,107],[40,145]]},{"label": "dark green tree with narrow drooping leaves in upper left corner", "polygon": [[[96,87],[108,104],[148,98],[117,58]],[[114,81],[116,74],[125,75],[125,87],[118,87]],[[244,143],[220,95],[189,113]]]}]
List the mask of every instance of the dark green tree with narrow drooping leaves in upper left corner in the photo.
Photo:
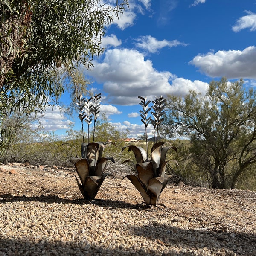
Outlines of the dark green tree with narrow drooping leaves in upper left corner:
[{"label": "dark green tree with narrow drooping leaves in upper left corner", "polygon": [[0,3],[0,114],[44,110],[72,72],[103,52],[101,38],[128,0],[4,0]]}]

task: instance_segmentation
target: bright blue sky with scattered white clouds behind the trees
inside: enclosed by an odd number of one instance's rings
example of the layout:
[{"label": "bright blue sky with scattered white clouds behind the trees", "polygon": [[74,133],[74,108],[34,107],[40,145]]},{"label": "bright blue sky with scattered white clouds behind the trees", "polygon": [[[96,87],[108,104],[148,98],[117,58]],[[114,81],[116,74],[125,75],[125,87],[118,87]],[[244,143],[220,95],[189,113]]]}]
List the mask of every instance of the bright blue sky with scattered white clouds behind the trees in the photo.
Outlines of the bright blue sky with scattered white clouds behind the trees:
[{"label": "bright blue sky with scattered white clouds behind the trees", "polygon": [[[108,121],[137,138],[145,132],[138,96],[204,93],[222,76],[256,86],[256,0],[130,0],[102,45],[106,50],[92,70],[81,67],[92,81],[88,89],[102,93]],[[62,100],[68,103],[69,95]],[[70,122],[81,128],[76,116],[61,115],[58,108],[41,119],[45,131],[58,135]]]}]

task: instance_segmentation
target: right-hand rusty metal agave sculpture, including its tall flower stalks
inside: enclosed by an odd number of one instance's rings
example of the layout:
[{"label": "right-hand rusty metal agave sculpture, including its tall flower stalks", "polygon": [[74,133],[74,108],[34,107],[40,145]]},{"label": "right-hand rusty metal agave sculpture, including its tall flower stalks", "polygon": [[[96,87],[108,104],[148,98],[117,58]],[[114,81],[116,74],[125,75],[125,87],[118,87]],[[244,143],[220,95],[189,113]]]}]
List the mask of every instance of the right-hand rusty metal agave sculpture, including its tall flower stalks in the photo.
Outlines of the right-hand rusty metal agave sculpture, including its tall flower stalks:
[{"label": "right-hand rusty metal agave sculpture, including its tall flower stalks", "polygon": [[[150,108],[147,108],[149,102],[146,102],[146,97],[143,98],[139,96],[139,98],[141,99],[140,105],[143,106],[143,111],[140,111],[140,116],[142,117],[141,121],[145,124],[145,128],[147,129],[148,122],[150,121],[150,118],[147,118],[147,113],[150,110]],[[157,122],[154,122],[156,125],[153,126],[155,129],[158,129],[160,122],[163,121],[163,119],[160,119],[160,117],[163,116],[165,101],[163,101],[163,97],[160,96],[155,102],[153,102],[155,104],[153,109],[158,109],[158,111],[154,112],[154,118],[157,120]],[[161,102],[161,106],[159,106],[159,102]],[[157,104],[158,106],[156,106]],[[166,187],[170,177],[172,177],[171,175],[167,175],[165,173],[167,164],[170,161],[178,164],[176,160],[166,161],[166,154],[168,150],[172,148],[177,152],[177,148],[175,146],[164,146],[165,143],[169,142],[157,142],[153,145],[151,148],[150,159],[148,159],[148,146],[147,151],[145,151],[144,148],[134,145],[128,145],[122,148],[122,152],[125,150],[125,148],[128,148],[128,151],[132,150],[134,152],[137,162],[134,164],[135,175],[129,174],[125,177],[127,177],[140,192],[140,195],[143,197],[145,204],[147,205],[157,206],[160,194]],[[131,161],[126,160],[125,162]]]}]

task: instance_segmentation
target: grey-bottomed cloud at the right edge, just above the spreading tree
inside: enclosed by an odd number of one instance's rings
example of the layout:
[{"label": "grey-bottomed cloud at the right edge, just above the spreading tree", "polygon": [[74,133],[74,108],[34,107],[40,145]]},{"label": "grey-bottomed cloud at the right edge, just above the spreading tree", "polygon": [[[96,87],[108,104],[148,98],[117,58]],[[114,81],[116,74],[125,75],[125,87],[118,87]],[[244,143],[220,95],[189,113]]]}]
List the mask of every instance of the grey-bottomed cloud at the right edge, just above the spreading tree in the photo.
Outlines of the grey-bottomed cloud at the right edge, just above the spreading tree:
[{"label": "grey-bottomed cloud at the right edge, just above the spreading tree", "polygon": [[211,77],[256,79],[256,47],[198,55],[190,62]]}]

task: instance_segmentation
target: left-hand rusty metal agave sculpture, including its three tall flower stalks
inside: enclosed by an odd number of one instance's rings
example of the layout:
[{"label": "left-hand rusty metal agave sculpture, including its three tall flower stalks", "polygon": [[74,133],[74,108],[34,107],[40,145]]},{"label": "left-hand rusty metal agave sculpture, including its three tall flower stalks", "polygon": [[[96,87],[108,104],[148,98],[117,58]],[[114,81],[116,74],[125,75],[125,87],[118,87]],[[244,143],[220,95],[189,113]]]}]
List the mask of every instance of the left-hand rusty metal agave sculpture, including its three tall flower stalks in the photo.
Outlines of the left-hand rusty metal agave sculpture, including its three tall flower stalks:
[{"label": "left-hand rusty metal agave sculpture, including its three tall flower stalks", "polygon": [[[84,99],[81,95],[78,97],[77,108],[79,110],[79,119],[82,122],[82,133],[83,133],[83,143],[81,147],[82,158],[71,158],[71,163],[75,166],[76,172],[79,179],[76,177],[76,182],[81,191],[84,199],[94,199],[97,192],[99,191],[105,177],[111,175],[110,173],[104,173],[106,164],[108,160],[115,163],[113,157],[102,157],[103,149],[107,143],[94,142],[94,132],[96,119],[99,116],[99,99],[100,94],[94,96],[94,104],[90,101],[93,99]],[[93,127],[93,142],[89,143],[89,125],[94,116],[94,127]],[[84,130],[83,130],[83,120],[87,122],[88,125],[88,143],[84,143]],[[109,144],[109,143],[108,143]],[[111,144],[115,145],[115,143]]]}]

